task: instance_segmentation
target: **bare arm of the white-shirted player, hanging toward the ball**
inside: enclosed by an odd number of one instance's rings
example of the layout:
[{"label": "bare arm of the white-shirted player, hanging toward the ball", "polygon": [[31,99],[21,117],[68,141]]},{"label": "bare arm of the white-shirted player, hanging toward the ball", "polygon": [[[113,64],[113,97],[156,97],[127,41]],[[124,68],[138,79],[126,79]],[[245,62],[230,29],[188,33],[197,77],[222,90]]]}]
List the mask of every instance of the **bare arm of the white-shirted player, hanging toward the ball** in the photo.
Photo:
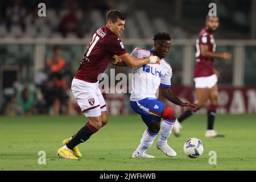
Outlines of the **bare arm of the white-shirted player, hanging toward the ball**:
[{"label": "bare arm of the white-shirted player, hanging toward the ball", "polygon": [[172,90],[170,88],[160,86],[160,90],[164,97],[166,97],[172,103],[179,105],[180,107],[183,107],[183,109],[188,109],[188,110],[196,110],[197,109],[196,105],[190,104],[189,102],[183,102],[183,101],[179,100],[179,98],[177,98],[175,96],[175,94],[172,92]]}]

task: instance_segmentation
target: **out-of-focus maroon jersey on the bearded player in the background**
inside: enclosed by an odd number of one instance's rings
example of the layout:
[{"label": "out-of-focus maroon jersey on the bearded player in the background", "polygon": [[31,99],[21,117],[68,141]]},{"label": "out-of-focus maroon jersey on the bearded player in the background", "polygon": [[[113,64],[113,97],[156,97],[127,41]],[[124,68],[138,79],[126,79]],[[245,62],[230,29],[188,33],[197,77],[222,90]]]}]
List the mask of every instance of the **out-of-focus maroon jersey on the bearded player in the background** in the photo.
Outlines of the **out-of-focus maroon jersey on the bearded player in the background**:
[{"label": "out-of-focus maroon jersey on the bearded player in the background", "polygon": [[213,75],[213,59],[201,56],[200,45],[207,45],[210,52],[215,52],[216,44],[212,32],[204,27],[196,40],[196,65],[194,68],[194,78]]}]

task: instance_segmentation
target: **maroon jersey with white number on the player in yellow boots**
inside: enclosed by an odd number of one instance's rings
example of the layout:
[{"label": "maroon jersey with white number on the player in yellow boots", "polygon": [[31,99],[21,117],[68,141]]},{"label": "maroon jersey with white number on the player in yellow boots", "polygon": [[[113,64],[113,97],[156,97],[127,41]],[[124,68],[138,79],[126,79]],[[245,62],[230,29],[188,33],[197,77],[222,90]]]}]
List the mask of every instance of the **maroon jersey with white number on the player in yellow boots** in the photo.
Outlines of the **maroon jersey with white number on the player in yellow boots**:
[{"label": "maroon jersey with white number on the player in yellow boots", "polygon": [[127,53],[120,38],[108,27],[99,28],[84,54],[81,65],[74,78],[86,82],[97,82],[98,75],[105,72],[114,55]]}]

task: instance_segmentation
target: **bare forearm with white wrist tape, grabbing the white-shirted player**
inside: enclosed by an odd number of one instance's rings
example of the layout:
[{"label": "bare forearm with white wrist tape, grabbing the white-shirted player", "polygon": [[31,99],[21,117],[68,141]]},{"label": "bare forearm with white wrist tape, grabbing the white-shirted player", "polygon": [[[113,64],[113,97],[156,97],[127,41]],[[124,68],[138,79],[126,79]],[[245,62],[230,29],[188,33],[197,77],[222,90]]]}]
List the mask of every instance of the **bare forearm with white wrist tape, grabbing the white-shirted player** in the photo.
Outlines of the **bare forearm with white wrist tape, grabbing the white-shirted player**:
[{"label": "bare forearm with white wrist tape, grabbing the white-shirted player", "polygon": [[125,53],[124,55],[118,56],[122,61],[125,62],[129,67],[139,67],[144,64],[156,64],[160,62],[160,58],[158,56],[150,56],[143,59],[139,59],[131,56],[129,53]]}]

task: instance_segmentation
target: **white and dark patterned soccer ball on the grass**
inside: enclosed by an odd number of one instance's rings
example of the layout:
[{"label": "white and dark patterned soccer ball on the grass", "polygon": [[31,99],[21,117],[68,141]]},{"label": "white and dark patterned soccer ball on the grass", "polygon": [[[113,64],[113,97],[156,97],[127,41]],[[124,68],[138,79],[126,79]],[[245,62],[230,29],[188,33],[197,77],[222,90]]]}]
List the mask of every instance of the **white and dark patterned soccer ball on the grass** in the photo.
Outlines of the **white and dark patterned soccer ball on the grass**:
[{"label": "white and dark patterned soccer ball on the grass", "polygon": [[200,139],[197,138],[189,138],[185,143],[183,150],[185,155],[189,158],[198,158],[203,154],[204,144]]}]

